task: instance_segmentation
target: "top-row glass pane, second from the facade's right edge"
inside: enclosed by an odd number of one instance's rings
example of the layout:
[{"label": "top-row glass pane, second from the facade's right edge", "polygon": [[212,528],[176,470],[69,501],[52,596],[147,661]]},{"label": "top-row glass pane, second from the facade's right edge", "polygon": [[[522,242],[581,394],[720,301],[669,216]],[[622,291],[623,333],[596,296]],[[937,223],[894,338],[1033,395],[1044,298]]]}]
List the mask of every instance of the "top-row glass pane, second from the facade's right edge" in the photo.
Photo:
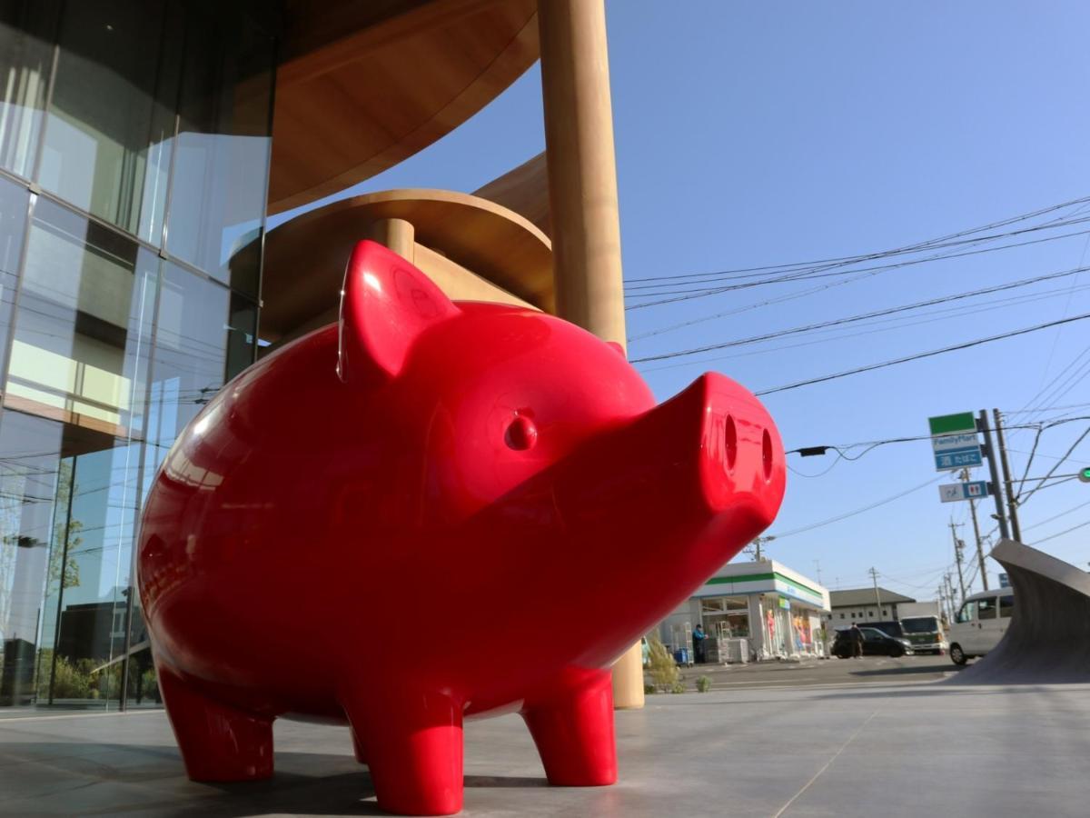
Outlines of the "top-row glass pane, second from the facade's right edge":
[{"label": "top-row glass pane, second from the facade's right edge", "polygon": [[180,33],[166,3],[66,3],[39,181],[160,243]]}]

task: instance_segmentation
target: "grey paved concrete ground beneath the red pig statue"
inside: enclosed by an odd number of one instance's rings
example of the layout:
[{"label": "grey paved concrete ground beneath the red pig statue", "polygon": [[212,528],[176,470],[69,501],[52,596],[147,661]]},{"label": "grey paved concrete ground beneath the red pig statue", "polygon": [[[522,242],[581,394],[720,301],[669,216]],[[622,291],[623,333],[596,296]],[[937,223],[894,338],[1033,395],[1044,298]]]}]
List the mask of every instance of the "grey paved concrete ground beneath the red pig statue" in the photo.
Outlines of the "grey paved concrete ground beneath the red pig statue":
[{"label": "grey paved concrete ground beneath the red pig statue", "polygon": [[[557,789],[521,720],[471,722],[464,814],[1002,818],[1090,804],[1090,686],[663,695],[618,713],[617,736],[619,784]],[[278,722],[276,754],[270,781],[195,784],[161,712],[24,713],[0,721],[0,814],[378,814],[346,729]]]}]

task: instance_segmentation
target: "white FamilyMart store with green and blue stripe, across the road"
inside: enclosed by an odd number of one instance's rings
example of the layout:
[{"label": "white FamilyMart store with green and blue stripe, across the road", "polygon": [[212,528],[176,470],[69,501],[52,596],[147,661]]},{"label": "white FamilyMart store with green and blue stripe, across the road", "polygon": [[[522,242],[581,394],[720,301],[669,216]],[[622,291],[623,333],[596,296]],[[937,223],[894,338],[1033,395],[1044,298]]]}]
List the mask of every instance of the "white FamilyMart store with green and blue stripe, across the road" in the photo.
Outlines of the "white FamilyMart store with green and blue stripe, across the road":
[{"label": "white FamilyMart store with green and blue stripe, across the road", "polygon": [[692,630],[703,625],[719,648],[710,654],[723,661],[739,652],[748,660],[822,655],[828,612],[825,588],[775,560],[729,563],[663,621],[659,636],[691,655]]}]

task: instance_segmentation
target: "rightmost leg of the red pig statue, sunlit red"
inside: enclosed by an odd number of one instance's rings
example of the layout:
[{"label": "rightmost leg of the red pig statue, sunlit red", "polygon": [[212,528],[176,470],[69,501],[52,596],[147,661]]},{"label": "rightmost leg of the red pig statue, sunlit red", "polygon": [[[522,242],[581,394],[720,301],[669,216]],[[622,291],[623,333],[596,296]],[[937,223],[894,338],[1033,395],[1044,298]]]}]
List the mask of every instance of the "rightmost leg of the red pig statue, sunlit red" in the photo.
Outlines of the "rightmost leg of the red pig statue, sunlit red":
[{"label": "rightmost leg of the red pig statue, sunlit red", "polygon": [[617,782],[613,679],[608,671],[573,674],[555,694],[528,700],[522,718],[550,784],[603,786]]}]

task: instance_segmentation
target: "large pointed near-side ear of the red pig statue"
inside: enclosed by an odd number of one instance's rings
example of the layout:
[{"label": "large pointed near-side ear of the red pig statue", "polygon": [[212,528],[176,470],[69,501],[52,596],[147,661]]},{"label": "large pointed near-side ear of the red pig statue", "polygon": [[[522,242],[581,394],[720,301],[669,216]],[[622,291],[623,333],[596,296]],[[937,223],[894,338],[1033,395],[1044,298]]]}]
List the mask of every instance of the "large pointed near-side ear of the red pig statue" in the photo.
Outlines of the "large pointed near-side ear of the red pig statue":
[{"label": "large pointed near-side ear of the red pig statue", "polygon": [[396,377],[416,337],[457,313],[412,264],[382,244],[361,241],[341,287],[337,374],[342,381]]}]

